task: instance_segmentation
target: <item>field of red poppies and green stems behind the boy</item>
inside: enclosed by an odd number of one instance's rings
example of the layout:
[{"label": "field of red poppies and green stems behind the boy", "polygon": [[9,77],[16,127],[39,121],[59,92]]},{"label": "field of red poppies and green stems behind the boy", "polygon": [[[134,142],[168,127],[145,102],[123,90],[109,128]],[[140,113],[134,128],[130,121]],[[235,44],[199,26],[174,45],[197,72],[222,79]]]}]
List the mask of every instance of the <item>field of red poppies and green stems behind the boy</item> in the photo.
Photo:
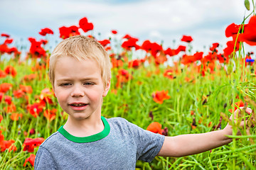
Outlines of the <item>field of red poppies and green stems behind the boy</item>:
[{"label": "field of red poppies and green stems behind the boy", "polygon": [[[139,43],[129,34],[119,39],[118,30],[111,30],[112,38],[98,40],[93,28],[86,17],[59,30],[42,28],[41,40],[28,38],[31,46],[25,58],[11,35],[1,33],[0,169],[33,169],[38,147],[68,118],[48,79],[52,34],[60,39],[86,35],[107,50],[112,80],[102,106],[105,118],[122,117],[168,136],[233,125],[233,142],[228,145],[186,157],[138,161],[137,169],[256,169],[255,53],[244,48],[256,45],[254,10],[242,23],[230,23],[225,30],[227,43],[220,48],[213,42],[208,52],[191,52],[193,35],[181,35],[181,45],[165,48],[151,40]],[[229,120],[240,107],[250,107],[252,113],[241,110],[238,123]],[[245,119],[247,124],[240,127]]]}]

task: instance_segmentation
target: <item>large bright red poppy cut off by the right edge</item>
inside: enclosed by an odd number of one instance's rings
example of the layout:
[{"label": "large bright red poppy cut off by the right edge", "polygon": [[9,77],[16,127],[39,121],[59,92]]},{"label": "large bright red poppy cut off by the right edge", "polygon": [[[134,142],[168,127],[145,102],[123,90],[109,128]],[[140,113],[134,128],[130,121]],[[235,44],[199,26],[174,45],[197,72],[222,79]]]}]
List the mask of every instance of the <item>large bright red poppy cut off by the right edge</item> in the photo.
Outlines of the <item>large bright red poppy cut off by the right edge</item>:
[{"label": "large bright red poppy cut off by the right edge", "polygon": [[239,40],[246,42],[248,45],[256,45],[256,16],[250,18],[244,33],[239,35]]}]

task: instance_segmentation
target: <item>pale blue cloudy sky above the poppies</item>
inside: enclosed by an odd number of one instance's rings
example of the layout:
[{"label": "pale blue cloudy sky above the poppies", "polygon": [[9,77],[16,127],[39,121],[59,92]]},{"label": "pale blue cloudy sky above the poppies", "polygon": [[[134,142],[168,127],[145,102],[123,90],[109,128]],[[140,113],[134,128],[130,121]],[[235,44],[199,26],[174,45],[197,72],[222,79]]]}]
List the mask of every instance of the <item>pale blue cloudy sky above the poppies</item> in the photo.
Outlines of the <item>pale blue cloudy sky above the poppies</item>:
[{"label": "pale blue cloudy sky above the poppies", "polygon": [[[98,40],[117,30],[116,38],[129,34],[139,38],[139,45],[150,40],[175,49],[187,45],[181,42],[183,35],[191,35],[192,52],[208,52],[213,42],[224,48],[231,40],[225,38],[225,28],[242,23],[250,11],[244,0],[0,0],[0,33],[11,35],[14,45],[29,47],[28,37],[39,40],[44,37],[38,32],[51,28],[55,34],[47,38],[54,47],[61,40],[58,28],[78,26],[80,18],[87,17]],[[256,47],[245,49],[256,53]]]}]

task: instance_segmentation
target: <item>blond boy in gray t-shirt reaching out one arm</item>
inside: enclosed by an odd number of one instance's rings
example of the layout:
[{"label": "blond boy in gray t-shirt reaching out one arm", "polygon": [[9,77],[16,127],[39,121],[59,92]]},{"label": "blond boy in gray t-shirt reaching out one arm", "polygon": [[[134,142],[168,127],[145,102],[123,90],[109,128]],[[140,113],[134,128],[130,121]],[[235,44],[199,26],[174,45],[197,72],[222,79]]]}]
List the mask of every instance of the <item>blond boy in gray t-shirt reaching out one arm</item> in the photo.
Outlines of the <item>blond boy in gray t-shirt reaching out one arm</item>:
[{"label": "blond boy in gray t-shirt reaching out one arm", "polygon": [[107,52],[92,38],[73,36],[55,47],[49,77],[68,120],[39,147],[35,169],[135,169],[138,159],[183,157],[232,142],[226,137],[232,135],[231,125],[203,134],[164,137],[123,118],[103,118],[110,69]]}]

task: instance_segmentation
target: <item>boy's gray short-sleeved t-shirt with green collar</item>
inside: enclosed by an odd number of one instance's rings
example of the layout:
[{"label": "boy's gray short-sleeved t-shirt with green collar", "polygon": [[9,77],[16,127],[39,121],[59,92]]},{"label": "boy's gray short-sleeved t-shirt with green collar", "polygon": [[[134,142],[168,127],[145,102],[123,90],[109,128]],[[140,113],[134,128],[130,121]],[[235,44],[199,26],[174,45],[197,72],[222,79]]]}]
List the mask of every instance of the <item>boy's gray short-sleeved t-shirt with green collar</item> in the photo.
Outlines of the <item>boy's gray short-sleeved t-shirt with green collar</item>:
[{"label": "boy's gray short-sleeved t-shirt with green collar", "polygon": [[39,147],[35,169],[135,169],[137,160],[151,162],[164,136],[139,128],[124,118],[102,117],[105,129],[75,137],[63,127]]}]

